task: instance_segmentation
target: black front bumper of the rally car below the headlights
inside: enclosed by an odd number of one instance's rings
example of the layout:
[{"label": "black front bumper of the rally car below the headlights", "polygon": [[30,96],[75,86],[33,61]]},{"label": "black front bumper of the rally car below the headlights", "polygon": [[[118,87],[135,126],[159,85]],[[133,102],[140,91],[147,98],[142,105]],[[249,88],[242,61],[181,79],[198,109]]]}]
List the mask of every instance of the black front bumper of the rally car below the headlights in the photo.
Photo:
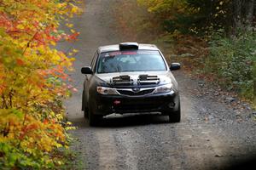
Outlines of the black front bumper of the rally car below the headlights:
[{"label": "black front bumper of the rally car below the headlights", "polygon": [[98,94],[94,102],[96,115],[106,116],[112,113],[139,113],[177,111],[179,105],[178,94],[150,94],[147,96],[129,97],[122,95]]}]

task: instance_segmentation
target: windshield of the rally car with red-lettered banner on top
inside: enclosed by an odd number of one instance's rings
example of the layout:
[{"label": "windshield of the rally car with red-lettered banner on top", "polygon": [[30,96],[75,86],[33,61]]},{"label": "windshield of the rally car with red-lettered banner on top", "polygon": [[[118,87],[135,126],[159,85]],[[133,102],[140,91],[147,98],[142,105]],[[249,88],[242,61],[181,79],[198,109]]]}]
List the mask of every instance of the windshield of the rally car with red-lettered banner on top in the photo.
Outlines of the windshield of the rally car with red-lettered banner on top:
[{"label": "windshield of the rally car with red-lettered banner on top", "polygon": [[166,64],[159,51],[116,51],[100,54],[97,73],[125,71],[166,71]]}]

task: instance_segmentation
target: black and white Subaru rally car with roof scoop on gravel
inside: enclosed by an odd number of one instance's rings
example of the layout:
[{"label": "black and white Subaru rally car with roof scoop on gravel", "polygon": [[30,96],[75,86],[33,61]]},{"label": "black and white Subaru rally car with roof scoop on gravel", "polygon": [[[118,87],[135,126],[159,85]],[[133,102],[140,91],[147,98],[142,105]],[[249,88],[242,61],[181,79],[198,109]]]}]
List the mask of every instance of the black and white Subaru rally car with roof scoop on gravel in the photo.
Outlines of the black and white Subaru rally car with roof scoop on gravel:
[{"label": "black and white Subaru rally car with roof scoop on gravel", "polygon": [[180,122],[177,82],[160,49],[152,44],[123,42],[97,49],[85,75],[82,110],[90,125],[112,113],[158,112]]}]

